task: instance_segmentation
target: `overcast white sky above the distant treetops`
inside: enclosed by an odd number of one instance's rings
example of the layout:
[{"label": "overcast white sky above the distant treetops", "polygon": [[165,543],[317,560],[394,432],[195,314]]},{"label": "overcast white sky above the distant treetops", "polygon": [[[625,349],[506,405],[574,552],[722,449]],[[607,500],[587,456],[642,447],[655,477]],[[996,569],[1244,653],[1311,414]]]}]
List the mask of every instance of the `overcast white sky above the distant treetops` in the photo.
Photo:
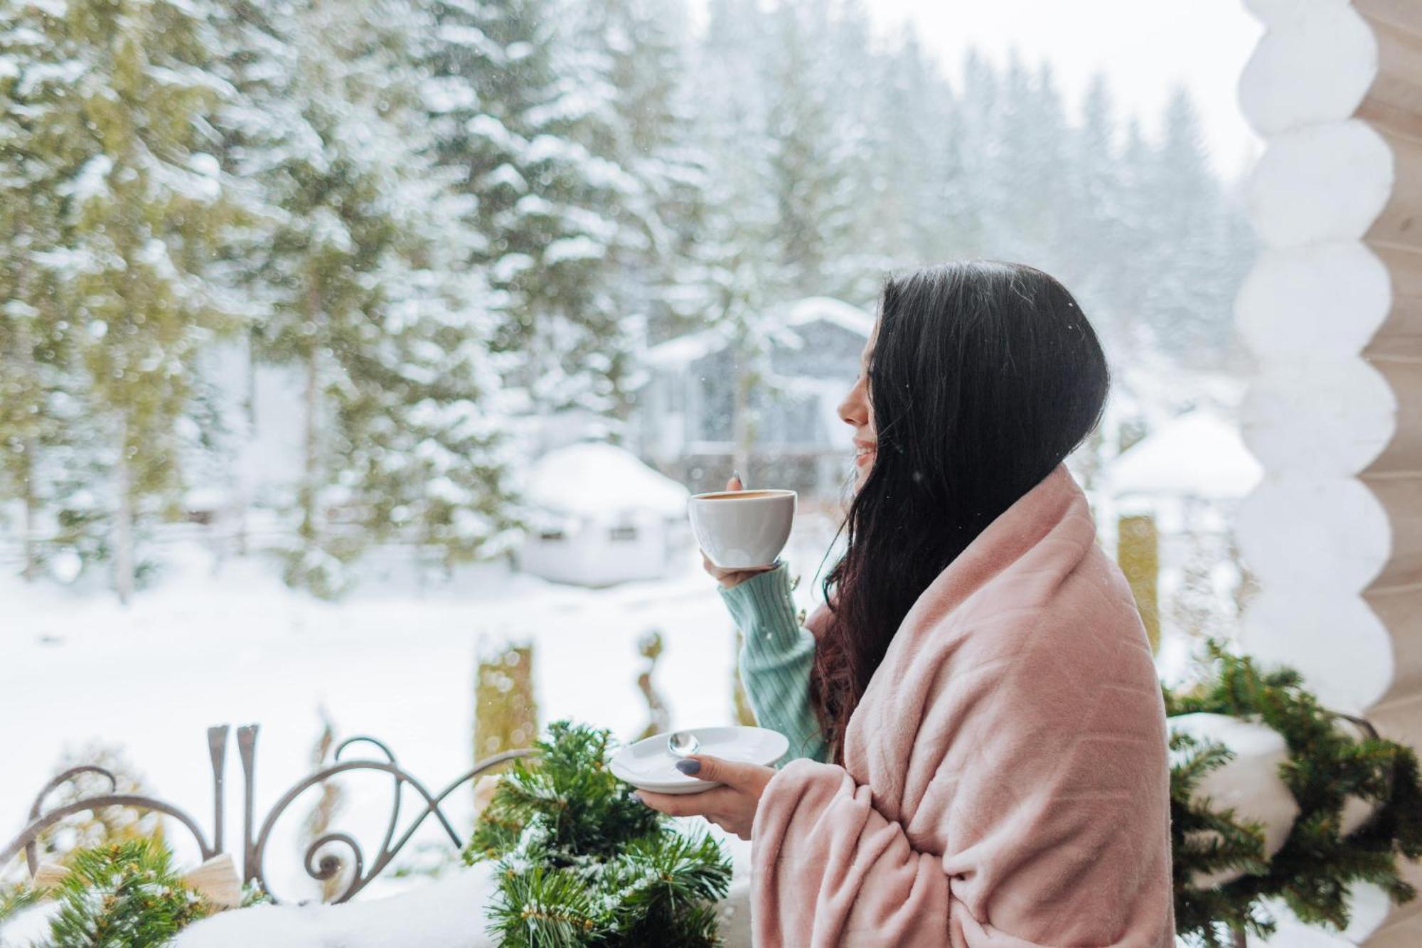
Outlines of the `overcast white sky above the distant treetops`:
[{"label": "overcast white sky above the distant treetops", "polygon": [[1216,168],[1234,177],[1261,144],[1234,94],[1263,27],[1241,0],[863,0],[886,34],[917,27],[954,80],[963,50],[1005,61],[1015,46],[1035,64],[1051,60],[1075,115],[1091,74],[1111,78],[1118,108],[1140,115],[1149,134],[1172,87],[1193,94]]}]

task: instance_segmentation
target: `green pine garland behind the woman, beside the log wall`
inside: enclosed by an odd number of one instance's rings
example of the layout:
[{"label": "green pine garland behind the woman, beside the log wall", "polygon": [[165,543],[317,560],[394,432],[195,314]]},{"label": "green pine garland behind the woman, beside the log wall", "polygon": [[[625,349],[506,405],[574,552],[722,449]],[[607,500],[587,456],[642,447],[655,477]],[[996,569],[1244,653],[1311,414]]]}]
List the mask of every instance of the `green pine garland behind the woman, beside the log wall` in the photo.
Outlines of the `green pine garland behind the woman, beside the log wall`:
[{"label": "green pine garland behind the woman, beside the log wall", "polygon": [[[1172,750],[1183,756],[1170,770],[1176,932],[1209,948],[1233,944],[1237,931],[1268,935],[1276,920],[1264,901],[1276,898],[1307,924],[1341,929],[1348,924],[1348,892],[1359,881],[1379,885],[1394,902],[1411,901],[1416,892],[1399,875],[1398,860],[1422,857],[1422,780],[1412,749],[1344,733],[1340,716],[1321,707],[1293,669],[1261,672],[1214,639],[1207,653],[1214,678],[1187,692],[1165,689],[1166,715],[1229,715],[1277,730],[1288,746],[1280,777],[1300,811],[1270,858],[1261,827],[1190,799],[1200,779],[1233,754],[1173,736]],[[1348,797],[1374,804],[1375,813],[1344,836]],[[1202,830],[1210,834],[1202,837]],[[1190,884],[1196,874],[1221,868],[1244,874],[1209,890]]]}]

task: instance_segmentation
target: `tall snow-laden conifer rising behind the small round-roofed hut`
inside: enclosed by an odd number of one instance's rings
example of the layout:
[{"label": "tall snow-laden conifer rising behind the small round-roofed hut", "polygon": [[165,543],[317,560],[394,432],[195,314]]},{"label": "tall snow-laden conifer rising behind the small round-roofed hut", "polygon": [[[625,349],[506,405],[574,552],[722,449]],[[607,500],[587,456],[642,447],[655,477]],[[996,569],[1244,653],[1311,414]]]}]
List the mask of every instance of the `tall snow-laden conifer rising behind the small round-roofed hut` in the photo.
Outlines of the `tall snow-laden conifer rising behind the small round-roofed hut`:
[{"label": "tall snow-laden conifer rising behind the small round-roofed hut", "polygon": [[616,411],[629,343],[607,292],[626,171],[577,139],[587,91],[560,81],[552,0],[435,0],[424,50],[434,154],[476,202],[471,265],[501,313],[508,380],[540,411]]}]

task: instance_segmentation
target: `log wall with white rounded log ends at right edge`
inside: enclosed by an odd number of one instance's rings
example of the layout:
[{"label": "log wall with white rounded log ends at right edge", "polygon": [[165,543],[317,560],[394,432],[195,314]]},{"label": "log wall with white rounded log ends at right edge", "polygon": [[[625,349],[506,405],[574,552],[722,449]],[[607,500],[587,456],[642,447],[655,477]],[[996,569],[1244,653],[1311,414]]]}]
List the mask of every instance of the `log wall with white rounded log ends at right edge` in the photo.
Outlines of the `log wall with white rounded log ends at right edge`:
[{"label": "log wall with white rounded log ends at right edge", "polygon": [[[1422,746],[1422,0],[1246,4],[1263,252],[1236,316],[1266,477],[1239,520],[1243,645]],[[1422,900],[1374,914],[1349,939],[1422,945]]]}]

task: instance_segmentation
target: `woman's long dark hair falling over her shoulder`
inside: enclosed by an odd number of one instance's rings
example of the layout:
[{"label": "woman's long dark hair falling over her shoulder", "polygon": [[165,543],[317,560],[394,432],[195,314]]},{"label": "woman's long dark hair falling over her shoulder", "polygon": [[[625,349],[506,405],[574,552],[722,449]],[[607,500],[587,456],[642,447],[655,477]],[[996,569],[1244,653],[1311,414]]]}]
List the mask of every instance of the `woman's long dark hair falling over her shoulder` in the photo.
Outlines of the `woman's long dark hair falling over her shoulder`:
[{"label": "woman's long dark hair falling over her shoulder", "polygon": [[995,260],[887,278],[867,373],[879,447],[823,581],[812,675],[835,760],[904,613],[1096,427],[1111,381],[1066,288]]}]

